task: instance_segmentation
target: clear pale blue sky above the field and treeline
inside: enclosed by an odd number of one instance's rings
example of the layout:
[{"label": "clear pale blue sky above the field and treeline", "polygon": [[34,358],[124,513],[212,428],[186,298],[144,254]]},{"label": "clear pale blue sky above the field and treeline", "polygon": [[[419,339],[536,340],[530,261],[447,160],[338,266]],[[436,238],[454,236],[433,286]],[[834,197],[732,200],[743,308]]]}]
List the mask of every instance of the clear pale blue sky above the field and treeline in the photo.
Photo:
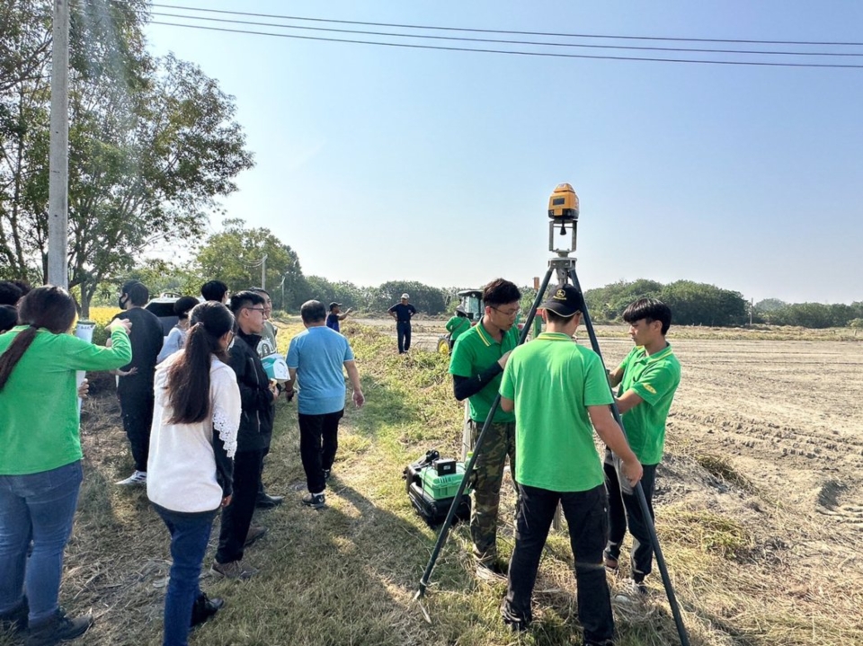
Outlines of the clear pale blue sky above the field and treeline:
[{"label": "clear pale blue sky above the field and treeline", "polygon": [[[505,31],[863,40],[863,3],[856,0],[156,2]],[[552,255],[548,196],[569,182],[581,200],[573,255],[585,289],[622,279],[688,279],[756,302],[863,300],[863,68],[522,57],[156,24],[147,27],[147,38],[154,54],[173,52],[198,64],[236,98],[236,119],[256,164],[237,178],[239,190],[223,206],[228,217],[270,228],[298,253],[306,275],[365,286],[407,279],[476,287],[498,276],[530,284]],[[863,65],[863,47],[613,42],[843,51],[859,56],[817,62]]]}]

